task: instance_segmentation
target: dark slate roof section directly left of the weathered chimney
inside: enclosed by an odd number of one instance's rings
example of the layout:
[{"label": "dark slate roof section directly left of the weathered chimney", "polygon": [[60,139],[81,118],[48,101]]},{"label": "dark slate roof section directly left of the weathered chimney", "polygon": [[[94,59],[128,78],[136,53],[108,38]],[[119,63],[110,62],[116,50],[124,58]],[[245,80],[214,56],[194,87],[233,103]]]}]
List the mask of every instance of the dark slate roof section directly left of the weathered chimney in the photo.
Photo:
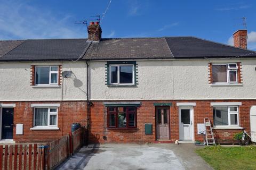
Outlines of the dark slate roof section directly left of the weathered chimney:
[{"label": "dark slate roof section directly left of the weathered chimney", "polygon": [[87,39],[26,40],[0,57],[0,61],[76,60],[87,45]]}]

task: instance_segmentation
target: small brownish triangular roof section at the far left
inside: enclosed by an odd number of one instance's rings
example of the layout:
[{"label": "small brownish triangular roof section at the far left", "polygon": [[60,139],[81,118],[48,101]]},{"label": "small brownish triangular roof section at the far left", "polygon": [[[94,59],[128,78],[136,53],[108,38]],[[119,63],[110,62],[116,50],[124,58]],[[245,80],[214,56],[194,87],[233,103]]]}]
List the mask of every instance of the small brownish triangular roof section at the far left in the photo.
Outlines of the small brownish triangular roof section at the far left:
[{"label": "small brownish triangular roof section at the far left", "polygon": [[19,46],[25,40],[10,40],[10,41],[0,41],[0,57],[10,52],[13,48]]}]

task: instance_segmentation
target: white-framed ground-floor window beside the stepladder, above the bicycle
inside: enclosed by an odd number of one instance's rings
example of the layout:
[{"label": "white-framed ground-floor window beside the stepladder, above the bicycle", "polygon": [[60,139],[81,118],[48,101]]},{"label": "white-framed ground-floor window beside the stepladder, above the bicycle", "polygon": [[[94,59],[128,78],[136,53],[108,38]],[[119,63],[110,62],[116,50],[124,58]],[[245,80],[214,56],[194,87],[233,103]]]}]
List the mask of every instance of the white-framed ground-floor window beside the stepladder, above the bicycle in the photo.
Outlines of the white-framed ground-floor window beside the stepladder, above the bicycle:
[{"label": "white-framed ground-floor window beside the stepladder, above the bicycle", "polygon": [[238,106],[214,106],[213,124],[214,126],[238,126]]}]

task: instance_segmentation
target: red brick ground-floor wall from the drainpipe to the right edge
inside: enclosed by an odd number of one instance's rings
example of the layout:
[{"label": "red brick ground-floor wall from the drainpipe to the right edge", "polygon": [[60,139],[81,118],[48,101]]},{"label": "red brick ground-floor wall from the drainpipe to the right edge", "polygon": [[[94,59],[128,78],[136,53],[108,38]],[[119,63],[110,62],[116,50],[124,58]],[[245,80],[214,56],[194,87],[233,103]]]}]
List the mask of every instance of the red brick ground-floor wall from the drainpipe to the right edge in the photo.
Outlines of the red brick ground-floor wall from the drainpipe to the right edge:
[{"label": "red brick ground-floor wall from the drainpipe to the right edge", "polygon": [[[143,143],[154,142],[155,132],[155,106],[154,103],[172,103],[170,106],[170,141],[179,140],[179,107],[177,102],[195,102],[194,106],[194,135],[195,140],[203,141],[203,135],[197,134],[197,124],[204,123],[204,118],[209,117],[213,122],[213,107],[211,102],[237,102],[241,100],[165,100],[165,101],[142,101],[137,108],[137,129],[113,130],[107,129],[107,109],[102,101],[92,101],[90,142],[117,142],[117,143]],[[250,108],[256,105],[256,100],[242,100],[239,106],[239,124],[246,131],[250,131]],[[153,134],[145,135],[145,123],[153,124]],[[234,134],[241,130],[214,130],[215,138],[233,139]],[[106,137],[106,138],[103,138]]]}]

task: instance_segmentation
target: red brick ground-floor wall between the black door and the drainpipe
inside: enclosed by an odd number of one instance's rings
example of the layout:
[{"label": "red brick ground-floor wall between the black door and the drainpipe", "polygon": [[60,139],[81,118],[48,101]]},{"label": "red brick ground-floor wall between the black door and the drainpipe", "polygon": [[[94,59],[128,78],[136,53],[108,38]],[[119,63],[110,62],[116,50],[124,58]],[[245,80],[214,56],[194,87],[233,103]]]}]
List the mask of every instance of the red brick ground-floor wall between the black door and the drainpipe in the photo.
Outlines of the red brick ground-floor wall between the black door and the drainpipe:
[{"label": "red brick ground-floor wall between the black door and the drainpipe", "polygon": [[[58,128],[60,130],[30,130],[33,128],[33,108],[31,103],[60,103],[58,108]],[[16,135],[15,126],[13,129],[13,140],[16,142],[50,141],[58,139],[63,134],[70,132],[72,123],[86,125],[87,104],[86,101],[63,101],[54,102],[16,102],[14,107],[14,124],[23,124],[23,135]],[[62,112],[63,111],[63,112]],[[62,121],[63,117],[63,121]]]}]

